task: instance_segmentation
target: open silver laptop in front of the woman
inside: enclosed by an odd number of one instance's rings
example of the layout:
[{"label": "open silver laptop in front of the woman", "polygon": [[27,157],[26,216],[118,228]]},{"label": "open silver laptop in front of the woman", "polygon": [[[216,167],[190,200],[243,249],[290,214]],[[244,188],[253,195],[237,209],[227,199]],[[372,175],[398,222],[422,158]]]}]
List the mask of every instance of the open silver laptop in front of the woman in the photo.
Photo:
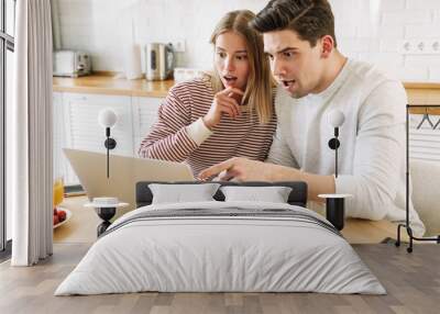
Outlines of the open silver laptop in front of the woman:
[{"label": "open silver laptop in front of the woman", "polygon": [[107,178],[107,154],[70,148],[63,150],[90,201],[92,198],[113,197],[130,204],[118,210],[117,216],[135,209],[135,186],[139,181],[196,181],[188,165],[111,153],[110,176]]}]

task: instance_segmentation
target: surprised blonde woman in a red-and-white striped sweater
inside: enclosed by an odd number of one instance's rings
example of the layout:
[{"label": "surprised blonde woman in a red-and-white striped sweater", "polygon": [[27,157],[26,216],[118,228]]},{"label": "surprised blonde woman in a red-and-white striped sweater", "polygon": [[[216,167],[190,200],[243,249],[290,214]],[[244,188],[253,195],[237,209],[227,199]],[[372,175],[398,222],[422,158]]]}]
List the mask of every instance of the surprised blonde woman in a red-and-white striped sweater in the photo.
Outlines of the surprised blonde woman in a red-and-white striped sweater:
[{"label": "surprised blonde woman in a red-and-white striped sweater", "polygon": [[273,80],[254,13],[227,13],[211,36],[215,70],[174,86],[142,141],[144,158],[185,161],[195,177],[231,157],[264,160],[276,128]]}]

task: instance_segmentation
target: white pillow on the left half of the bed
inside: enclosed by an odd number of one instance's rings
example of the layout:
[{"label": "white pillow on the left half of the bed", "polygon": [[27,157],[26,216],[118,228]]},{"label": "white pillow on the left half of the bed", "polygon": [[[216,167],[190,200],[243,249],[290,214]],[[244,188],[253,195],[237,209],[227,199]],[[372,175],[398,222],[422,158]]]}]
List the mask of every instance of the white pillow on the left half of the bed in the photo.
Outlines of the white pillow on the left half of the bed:
[{"label": "white pillow on the left half of the bed", "polygon": [[215,201],[219,183],[162,184],[151,183],[153,204]]}]

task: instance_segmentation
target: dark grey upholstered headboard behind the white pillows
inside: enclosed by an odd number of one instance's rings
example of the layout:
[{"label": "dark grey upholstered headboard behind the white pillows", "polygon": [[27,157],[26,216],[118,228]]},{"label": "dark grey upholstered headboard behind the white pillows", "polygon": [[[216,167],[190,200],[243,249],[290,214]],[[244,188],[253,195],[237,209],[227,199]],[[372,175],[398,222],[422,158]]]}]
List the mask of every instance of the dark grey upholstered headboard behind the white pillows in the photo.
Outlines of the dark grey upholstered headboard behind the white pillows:
[{"label": "dark grey upholstered headboard behind the white pillows", "polygon": [[[153,201],[153,193],[148,188],[150,183],[167,183],[167,184],[206,184],[211,182],[200,181],[180,181],[180,182],[158,182],[158,181],[141,181],[136,183],[136,208],[150,205]],[[241,186],[241,187],[289,187],[292,192],[287,202],[290,205],[298,205],[306,208],[307,204],[307,183],[302,181],[283,181],[283,182],[230,182],[230,181],[216,181],[222,187],[226,186]],[[213,195],[217,201],[224,201],[224,195],[220,191]]]}]

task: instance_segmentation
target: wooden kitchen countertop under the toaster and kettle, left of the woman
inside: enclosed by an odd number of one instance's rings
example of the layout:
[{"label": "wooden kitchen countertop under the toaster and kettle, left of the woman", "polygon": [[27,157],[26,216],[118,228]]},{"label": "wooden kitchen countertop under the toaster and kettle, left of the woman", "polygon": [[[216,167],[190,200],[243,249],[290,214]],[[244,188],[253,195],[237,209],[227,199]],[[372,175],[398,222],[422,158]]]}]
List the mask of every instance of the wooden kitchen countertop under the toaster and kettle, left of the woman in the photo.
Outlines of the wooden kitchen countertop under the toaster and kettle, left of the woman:
[{"label": "wooden kitchen countertop under the toaster and kettle, left of the woman", "polygon": [[174,80],[147,81],[145,79],[117,79],[114,75],[96,74],[79,78],[54,77],[53,90],[99,94],[140,96],[165,98]]}]

